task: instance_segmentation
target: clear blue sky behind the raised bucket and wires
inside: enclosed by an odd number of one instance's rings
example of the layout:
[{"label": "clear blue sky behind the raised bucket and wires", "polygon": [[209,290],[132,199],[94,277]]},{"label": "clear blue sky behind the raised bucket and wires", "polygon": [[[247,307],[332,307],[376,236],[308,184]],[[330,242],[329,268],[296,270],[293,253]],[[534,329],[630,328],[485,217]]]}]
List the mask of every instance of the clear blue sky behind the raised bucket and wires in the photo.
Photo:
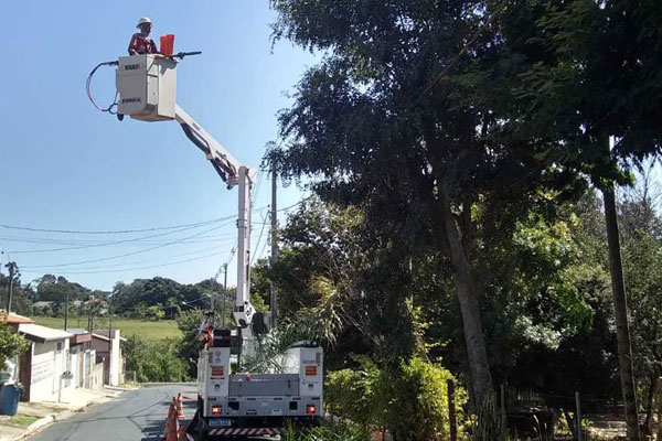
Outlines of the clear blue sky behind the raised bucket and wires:
[{"label": "clear blue sky behind the raised bucket and wires", "polygon": [[[178,67],[178,103],[247,165],[258,166],[265,144],[277,139],[276,112],[316,63],[289,42],[271,46],[267,0],[1,2],[0,224],[117,232],[225,219],[106,235],[0,227],[2,266],[15,261],[22,282],[55,273],[104,290],[154,276],[192,283],[228,260],[236,189],[225,189],[179,125],[119,122],[85,95],[89,71],[126,54],[141,15],[154,22],[157,40],[175,34],[175,52],[202,51]],[[114,68],[99,69],[93,93],[102,103],[113,99]],[[267,249],[261,222],[270,197],[268,175],[261,179],[253,232],[258,255]],[[280,189],[279,197],[285,207],[302,193]],[[231,261],[229,284],[235,267]]]}]

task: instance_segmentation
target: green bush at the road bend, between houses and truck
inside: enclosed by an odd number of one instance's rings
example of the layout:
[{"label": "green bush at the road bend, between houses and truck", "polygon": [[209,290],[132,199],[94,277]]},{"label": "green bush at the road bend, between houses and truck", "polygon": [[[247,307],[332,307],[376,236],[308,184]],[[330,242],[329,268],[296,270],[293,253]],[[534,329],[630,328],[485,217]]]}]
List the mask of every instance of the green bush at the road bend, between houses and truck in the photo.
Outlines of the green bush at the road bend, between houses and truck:
[{"label": "green bush at the road bend, between houses and truck", "polygon": [[127,370],[136,372],[138,381],[182,381],[189,379],[186,364],[175,353],[171,341],[146,341],[136,335],[125,346]]}]

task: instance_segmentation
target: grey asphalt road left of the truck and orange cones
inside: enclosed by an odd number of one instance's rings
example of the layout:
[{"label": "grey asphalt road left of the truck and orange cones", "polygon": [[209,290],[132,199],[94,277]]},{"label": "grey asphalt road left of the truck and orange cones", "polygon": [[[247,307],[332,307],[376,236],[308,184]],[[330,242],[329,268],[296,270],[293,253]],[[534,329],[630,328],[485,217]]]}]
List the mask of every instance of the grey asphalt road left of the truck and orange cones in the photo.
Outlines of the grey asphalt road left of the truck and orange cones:
[{"label": "grey asphalt road left of the truck and orange cones", "polygon": [[[30,441],[161,441],[172,397],[195,397],[191,386],[153,386],[121,394],[113,401],[56,422]],[[184,399],[184,416],[191,419],[195,401]]]}]

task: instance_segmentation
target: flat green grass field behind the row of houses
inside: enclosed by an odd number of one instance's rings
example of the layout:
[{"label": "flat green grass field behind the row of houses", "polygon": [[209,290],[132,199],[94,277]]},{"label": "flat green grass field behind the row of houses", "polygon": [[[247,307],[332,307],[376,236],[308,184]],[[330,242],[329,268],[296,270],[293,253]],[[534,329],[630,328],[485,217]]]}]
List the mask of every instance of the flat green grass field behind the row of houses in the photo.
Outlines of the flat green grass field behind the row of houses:
[{"label": "flat green grass field behind the row of houses", "polygon": [[[62,318],[34,318],[34,320],[36,324],[41,324],[42,326],[55,327],[58,330],[64,329],[64,319]],[[87,318],[82,316],[79,322],[75,316],[70,318],[67,326],[68,329],[87,327]],[[174,340],[182,336],[174,320],[160,320],[158,322],[152,322],[143,320],[119,319],[113,321],[113,327],[120,330],[120,335],[122,337],[129,337],[134,334],[137,334],[146,340]],[[108,319],[95,319],[94,329],[107,330]]]}]

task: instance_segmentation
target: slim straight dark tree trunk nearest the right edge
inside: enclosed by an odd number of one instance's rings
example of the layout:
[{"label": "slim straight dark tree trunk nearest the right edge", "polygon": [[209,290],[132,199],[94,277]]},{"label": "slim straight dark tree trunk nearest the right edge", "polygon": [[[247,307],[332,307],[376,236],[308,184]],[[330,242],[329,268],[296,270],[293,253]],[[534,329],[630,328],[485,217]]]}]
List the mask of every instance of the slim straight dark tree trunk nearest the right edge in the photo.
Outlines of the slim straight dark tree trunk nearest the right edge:
[{"label": "slim straight dark tree trunk nearest the right edge", "polygon": [[[605,142],[605,139],[601,141]],[[607,139],[606,142],[606,147],[609,149],[609,139]],[[609,269],[611,272],[611,291],[613,293],[616,338],[618,342],[618,363],[626,408],[628,441],[640,441],[639,418],[637,415],[637,392],[634,389],[634,374],[632,372],[632,347],[630,345],[630,326],[628,323],[628,302],[620,254],[616,197],[613,195],[613,185],[607,184],[601,190],[602,198],[605,201],[605,220],[607,224],[607,243],[609,246]]]}]

